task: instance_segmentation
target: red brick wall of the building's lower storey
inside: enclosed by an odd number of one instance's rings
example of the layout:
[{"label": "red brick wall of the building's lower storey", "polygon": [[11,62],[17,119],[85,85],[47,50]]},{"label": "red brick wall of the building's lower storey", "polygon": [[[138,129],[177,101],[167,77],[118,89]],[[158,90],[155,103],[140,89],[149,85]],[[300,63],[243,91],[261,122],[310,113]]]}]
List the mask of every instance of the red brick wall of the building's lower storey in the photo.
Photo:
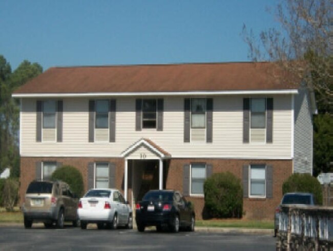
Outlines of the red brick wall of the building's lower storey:
[{"label": "red brick wall of the building's lower storey", "polygon": [[[28,184],[35,179],[35,166],[37,161],[57,161],[63,165],[75,166],[81,171],[85,191],[88,189],[88,163],[96,161],[106,161],[116,163],[116,187],[123,192],[124,160],[110,158],[87,158],[87,157],[68,157],[68,158],[21,158],[21,178],[20,178],[20,201],[23,202],[25,191]],[[271,164],[273,165],[273,198],[270,199],[243,199],[243,218],[245,219],[273,219],[276,206],[282,197],[282,183],[292,174],[292,160],[237,160],[237,159],[171,159],[166,168],[168,177],[164,184],[166,189],[183,191],[183,165],[191,162],[205,162],[213,165],[213,173],[231,172],[242,179],[242,166],[244,164]],[[129,189],[130,197],[131,189]],[[203,197],[188,197],[195,206],[196,218],[202,218],[204,206]]]}]

